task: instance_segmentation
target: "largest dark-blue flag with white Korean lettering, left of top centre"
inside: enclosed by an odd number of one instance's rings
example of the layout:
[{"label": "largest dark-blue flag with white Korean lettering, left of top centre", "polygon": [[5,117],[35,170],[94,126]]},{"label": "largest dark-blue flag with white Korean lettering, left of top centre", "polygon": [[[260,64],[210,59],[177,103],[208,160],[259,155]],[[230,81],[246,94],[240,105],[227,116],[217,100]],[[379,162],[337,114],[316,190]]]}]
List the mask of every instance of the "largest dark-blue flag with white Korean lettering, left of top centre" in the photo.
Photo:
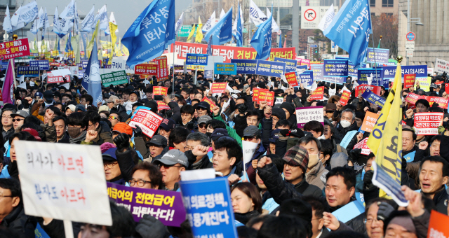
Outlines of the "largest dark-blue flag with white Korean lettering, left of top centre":
[{"label": "largest dark-blue flag with white Korean lettering, left of top centre", "polygon": [[121,39],[129,50],[128,66],[148,62],[175,43],[175,0],[155,0],[140,13]]}]

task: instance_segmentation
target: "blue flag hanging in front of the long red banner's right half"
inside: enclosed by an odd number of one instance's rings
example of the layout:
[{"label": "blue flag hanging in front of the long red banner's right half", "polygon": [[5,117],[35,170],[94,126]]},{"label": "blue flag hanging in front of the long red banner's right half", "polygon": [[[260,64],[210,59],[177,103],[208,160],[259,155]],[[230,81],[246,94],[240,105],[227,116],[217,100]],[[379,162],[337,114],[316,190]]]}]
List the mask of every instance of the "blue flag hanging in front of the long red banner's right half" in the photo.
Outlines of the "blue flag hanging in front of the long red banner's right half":
[{"label": "blue flag hanging in front of the long red banner's right half", "polygon": [[269,52],[272,49],[272,20],[270,16],[268,20],[262,22],[253,38],[251,39],[251,46],[257,51],[255,59],[268,59]]}]

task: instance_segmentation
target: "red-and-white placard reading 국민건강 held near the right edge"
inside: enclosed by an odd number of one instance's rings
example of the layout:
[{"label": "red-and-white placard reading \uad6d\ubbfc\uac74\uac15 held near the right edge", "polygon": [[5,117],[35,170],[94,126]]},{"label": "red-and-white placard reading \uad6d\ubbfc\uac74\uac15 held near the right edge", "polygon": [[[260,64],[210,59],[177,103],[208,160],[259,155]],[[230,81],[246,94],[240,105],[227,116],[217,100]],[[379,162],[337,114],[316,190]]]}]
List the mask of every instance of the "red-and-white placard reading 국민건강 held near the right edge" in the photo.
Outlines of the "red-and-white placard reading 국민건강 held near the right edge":
[{"label": "red-and-white placard reading \uad6d\ubbfc\uac74\uac15 held near the right edge", "polygon": [[444,113],[415,113],[413,127],[416,134],[418,136],[438,134],[438,127],[443,125],[443,115]]}]

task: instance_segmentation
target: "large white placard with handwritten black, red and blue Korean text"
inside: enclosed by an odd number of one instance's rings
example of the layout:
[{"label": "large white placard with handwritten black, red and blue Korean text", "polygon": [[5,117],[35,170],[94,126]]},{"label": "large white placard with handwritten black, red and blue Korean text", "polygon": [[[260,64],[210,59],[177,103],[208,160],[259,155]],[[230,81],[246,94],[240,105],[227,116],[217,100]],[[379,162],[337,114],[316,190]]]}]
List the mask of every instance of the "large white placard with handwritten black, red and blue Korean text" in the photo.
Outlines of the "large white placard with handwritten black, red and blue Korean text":
[{"label": "large white placard with handwritten black, red and blue Korean text", "polygon": [[29,216],[112,225],[98,146],[16,141],[20,186]]}]

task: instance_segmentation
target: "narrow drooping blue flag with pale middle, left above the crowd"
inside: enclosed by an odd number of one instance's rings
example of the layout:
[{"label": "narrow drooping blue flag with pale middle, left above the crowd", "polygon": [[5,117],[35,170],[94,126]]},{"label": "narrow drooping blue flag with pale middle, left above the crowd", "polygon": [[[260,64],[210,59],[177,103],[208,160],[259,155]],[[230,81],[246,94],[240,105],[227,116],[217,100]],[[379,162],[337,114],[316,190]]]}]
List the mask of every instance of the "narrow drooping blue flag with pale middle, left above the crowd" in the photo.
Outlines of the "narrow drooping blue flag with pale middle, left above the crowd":
[{"label": "narrow drooping blue flag with pale middle, left above the crowd", "polygon": [[88,90],[87,93],[93,97],[93,105],[97,105],[98,102],[103,101],[101,94],[101,77],[100,77],[100,64],[98,64],[98,49],[97,41],[93,41],[93,48],[91,57],[87,64],[88,68],[84,72],[84,76],[88,75]]}]

